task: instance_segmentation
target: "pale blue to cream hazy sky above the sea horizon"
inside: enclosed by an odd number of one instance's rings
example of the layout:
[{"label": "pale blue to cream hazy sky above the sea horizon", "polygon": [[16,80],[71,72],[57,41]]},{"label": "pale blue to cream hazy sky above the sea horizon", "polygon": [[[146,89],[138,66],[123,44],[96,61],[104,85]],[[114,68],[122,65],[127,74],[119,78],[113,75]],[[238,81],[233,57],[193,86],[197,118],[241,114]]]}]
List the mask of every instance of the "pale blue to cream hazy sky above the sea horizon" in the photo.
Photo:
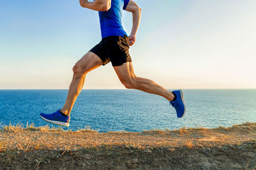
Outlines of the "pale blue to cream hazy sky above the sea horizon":
[{"label": "pale blue to cream hazy sky above the sea horizon", "polygon": [[[137,76],[168,89],[256,88],[255,0],[134,0]],[[68,89],[72,67],[99,43],[97,11],[79,1],[0,0],[0,89]],[[127,34],[132,15],[123,12]],[[86,89],[122,89],[111,63]]]}]

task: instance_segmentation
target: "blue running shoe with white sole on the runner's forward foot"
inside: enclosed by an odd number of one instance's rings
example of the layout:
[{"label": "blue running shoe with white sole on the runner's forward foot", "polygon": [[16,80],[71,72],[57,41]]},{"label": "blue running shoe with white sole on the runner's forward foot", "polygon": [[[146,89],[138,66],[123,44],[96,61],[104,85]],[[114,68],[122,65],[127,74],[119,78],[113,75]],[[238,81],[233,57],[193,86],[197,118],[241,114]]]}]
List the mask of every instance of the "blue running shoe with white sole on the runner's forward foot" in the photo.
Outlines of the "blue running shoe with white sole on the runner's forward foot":
[{"label": "blue running shoe with white sole on the runner's forward foot", "polygon": [[40,113],[40,117],[52,124],[63,125],[65,127],[69,126],[70,116],[64,117],[63,115],[61,115],[60,110],[57,110],[52,114]]}]

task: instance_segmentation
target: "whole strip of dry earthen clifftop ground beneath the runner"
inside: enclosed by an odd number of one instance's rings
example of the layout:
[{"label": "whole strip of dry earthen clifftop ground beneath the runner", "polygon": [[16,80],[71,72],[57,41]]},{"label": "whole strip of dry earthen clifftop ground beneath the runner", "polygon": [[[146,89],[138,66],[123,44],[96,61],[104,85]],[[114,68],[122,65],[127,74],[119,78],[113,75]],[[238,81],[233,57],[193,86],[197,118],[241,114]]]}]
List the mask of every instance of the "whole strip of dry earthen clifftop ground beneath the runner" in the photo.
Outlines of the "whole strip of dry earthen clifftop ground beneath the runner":
[{"label": "whole strip of dry earthen clifftop ground beneath the runner", "polygon": [[0,130],[0,169],[256,169],[256,123],[175,131]]}]

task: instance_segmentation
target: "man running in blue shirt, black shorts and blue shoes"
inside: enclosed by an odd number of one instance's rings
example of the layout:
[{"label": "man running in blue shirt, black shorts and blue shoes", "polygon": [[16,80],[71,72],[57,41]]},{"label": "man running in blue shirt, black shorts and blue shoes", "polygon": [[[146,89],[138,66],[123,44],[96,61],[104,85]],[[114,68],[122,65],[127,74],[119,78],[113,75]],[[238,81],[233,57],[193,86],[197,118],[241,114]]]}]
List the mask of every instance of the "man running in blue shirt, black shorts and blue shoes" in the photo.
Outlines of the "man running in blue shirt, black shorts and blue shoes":
[{"label": "man running in blue shirt, black shorts and blue shoes", "polygon": [[[152,80],[134,74],[129,46],[136,41],[140,24],[141,9],[132,0],[80,0],[83,8],[99,11],[102,40],[86,53],[73,67],[73,78],[68,89],[67,100],[62,109],[52,114],[40,113],[40,117],[53,124],[69,126],[70,112],[77,96],[83,89],[85,76],[89,71],[111,62],[115,72],[127,89],[137,89],[166,98],[175,108],[177,117],[186,111],[182,90],[170,92]],[[122,10],[132,13],[132,31],[127,36],[122,27]]]}]

